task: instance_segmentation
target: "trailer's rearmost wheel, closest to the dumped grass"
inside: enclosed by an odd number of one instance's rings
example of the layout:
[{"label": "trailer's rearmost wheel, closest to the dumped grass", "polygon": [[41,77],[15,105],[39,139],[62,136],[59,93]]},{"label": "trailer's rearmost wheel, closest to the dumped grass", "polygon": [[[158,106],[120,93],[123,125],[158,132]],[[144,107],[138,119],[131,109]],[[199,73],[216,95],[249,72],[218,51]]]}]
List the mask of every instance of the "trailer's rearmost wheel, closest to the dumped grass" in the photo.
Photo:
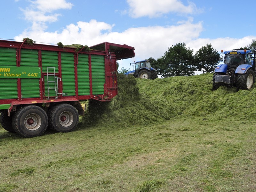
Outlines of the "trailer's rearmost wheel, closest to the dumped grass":
[{"label": "trailer's rearmost wheel, closest to the dumped grass", "polygon": [[57,132],[73,131],[79,120],[76,108],[66,103],[54,106],[48,116],[50,127]]}]

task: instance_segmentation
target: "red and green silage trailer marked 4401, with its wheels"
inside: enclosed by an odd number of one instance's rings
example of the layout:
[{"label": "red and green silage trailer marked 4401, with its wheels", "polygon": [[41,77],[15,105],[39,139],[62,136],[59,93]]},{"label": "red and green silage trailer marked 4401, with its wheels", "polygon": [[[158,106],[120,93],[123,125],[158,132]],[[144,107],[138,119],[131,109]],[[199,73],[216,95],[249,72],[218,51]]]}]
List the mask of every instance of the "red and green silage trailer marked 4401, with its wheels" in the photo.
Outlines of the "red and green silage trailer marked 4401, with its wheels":
[{"label": "red and green silage trailer marked 4401, with its wheels", "polygon": [[134,47],[104,42],[80,50],[0,40],[0,123],[22,137],[47,126],[72,131],[84,115],[80,101],[109,101],[117,94],[116,60]]}]

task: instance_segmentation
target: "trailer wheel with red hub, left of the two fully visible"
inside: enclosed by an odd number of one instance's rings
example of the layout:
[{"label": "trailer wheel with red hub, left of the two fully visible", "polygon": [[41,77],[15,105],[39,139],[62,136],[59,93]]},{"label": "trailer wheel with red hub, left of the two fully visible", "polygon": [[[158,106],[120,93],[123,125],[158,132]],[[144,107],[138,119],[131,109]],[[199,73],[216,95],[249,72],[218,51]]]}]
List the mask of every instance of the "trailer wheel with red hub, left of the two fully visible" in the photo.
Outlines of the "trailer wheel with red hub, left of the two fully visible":
[{"label": "trailer wheel with red hub, left of the two fully visible", "polygon": [[12,117],[12,128],[22,137],[42,135],[48,125],[44,109],[36,105],[19,108]]}]

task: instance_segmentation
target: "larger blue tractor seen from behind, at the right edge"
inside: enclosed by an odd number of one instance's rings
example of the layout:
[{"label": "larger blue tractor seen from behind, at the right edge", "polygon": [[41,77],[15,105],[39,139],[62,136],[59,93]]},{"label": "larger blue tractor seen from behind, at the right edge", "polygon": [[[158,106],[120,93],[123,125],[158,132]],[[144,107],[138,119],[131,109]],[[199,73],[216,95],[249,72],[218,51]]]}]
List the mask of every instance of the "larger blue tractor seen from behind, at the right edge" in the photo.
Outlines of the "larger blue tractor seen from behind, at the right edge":
[{"label": "larger blue tractor seen from behind, at the right edge", "polygon": [[218,89],[221,85],[234,85],[237,91],[251,89],[255,82],[255,50],[236,49],[225,51],[224,54],[224,63],[214,70],[213,89]]}]

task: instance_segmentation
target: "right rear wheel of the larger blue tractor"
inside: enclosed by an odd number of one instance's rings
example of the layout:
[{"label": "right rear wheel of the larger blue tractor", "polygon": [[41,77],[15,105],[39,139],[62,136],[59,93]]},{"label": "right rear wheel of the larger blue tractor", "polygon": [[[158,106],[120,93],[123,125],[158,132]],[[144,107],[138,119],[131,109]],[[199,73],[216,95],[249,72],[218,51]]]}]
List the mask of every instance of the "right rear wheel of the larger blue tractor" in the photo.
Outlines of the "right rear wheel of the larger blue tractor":
[{"label": "right rear wheel of the larger blue tractor", "polygon": [[255,74],[252,69],[248,69],[244,74],[237,74],[236,76],[236,90],[248,90],[252,88],[255,82]]}]

